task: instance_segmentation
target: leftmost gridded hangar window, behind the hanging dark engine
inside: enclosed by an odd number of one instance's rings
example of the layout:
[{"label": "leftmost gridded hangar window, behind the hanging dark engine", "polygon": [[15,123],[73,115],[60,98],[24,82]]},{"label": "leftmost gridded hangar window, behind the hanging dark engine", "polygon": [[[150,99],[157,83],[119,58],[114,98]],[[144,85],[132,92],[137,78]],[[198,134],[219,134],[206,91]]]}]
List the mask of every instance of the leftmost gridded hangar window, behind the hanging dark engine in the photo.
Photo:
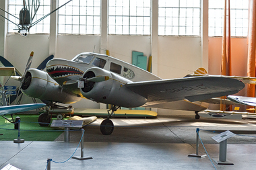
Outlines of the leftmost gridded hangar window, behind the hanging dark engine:
[{"label": "leftmost gridded hangar window, behind the hanging dark engine", "polygon": [[[1,0],[3,1],[3,0]],[[14,15],[15,17],[8,15],[8,19],[10,19],[15,24],[20,23],[20,11],[22,10],[24,0],[9,0],[8,1],[8,12],[11,13],[11,15]],[[32,2],[32,1],[31,1]],[[28,5],[28,4],[27,4]],[[30,9],[32,4],[29,5]],[[27,6],[28,7],[28,6]],[[33,19],[33,22],[40,19],[44,15],[51,12],[51,0],[40,0],[40,7],[38,8],[38,11]],[[17,17],[17,18],[16,18]],[[18,27],[15,26],[15,24],[8,22],[8,32],[14,33],[17,32]],[[49,34],[50,33],[50,17],[46,17],[42,19],[42,21],[38,22],[35,26],[30,28],[30,34]]]}]

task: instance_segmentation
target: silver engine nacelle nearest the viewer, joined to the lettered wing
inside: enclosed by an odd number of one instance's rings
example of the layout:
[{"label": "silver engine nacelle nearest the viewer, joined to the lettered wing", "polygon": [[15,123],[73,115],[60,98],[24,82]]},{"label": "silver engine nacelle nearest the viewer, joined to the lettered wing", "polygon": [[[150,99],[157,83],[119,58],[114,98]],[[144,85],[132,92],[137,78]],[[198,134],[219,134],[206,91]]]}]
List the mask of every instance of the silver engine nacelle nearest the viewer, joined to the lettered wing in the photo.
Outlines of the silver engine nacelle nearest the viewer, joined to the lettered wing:
[{"label": "silver engine nacelle nearest the viewer, joined to the lettered wing", "polygon": [[84,88],[80,89],[84,97],[93,101],[118,105],[125,108],[136,108],[147,102],[145,97],[125,87],[125,84],[131,81],[115,73],[93,67],[84,73],[83,78],[100,76],[108,76],[109,79],[98,83],[92,81],[84,83]]}]

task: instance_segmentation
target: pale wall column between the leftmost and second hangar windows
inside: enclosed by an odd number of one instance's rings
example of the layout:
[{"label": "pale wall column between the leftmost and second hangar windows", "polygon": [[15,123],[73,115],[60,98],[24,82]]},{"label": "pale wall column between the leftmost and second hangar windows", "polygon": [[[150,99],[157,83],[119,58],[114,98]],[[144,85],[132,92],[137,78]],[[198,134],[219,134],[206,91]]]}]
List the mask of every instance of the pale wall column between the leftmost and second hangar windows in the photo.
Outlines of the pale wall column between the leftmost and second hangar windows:
[{"label": "pale wall column between the leftmost and second hangar windows", "polygon": [[[57,0],[51,0],[51,11],[57,8]],[[50,15],[50,37],[49,37],[49,56],[56,56],[57,46],[57,14],[58,11]]]}]

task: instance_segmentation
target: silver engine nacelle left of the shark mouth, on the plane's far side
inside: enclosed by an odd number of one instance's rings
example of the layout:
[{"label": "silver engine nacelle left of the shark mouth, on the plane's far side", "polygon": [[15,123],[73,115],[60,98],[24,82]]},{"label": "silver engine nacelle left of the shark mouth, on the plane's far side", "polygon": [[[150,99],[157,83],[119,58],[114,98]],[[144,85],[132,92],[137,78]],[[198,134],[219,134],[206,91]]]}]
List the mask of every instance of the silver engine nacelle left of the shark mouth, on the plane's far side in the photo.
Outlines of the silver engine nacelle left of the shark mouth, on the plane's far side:
[{"label": "silver engine nacelle left of the shark mouth, on the plane's far side", "polygon": [[70,93],[61,90],[61,86],[47,73],[38,69],[29,69],[22,83],[22,92],[30,97],[57,101],[60,103],[75,103],[81,100]]}]

